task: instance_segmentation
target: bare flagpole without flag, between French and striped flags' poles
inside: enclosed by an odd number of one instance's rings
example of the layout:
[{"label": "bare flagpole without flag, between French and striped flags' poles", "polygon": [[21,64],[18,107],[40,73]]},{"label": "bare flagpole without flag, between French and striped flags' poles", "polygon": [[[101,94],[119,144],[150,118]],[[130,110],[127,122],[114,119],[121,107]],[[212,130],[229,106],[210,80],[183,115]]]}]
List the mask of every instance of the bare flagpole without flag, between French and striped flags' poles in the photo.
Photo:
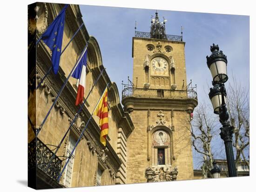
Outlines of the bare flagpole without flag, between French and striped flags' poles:
[{"label": "bare flagpole without flag, between French and striped flags' poles", "polygon": [[58,150],[60,149],[62,142],[64,141],[64,139],[65,139],[65,137],[67,136],[69,130],[71,129],[71,127],[72,127],[72,125],[73,125],[75,119],[78,117],[79,113],[81,112],[82,107],[84,106],[84,104],[85,104],[85,102],[87,101],[89,95],[91,94],[92,90],[94,89],[94,86],[98,83],[98,81],[99,81],[99,79],[100,79],[100,77],[101,77],[103,71],[104,71],[104,69],[101,70],[101,74],[98,76],[98,78],[97,78],[96,81],[94,82],[93,87],[92,87],[91,90],[89,91],[89,93],[88,93],[87,97],[85,98],[84,102],[81,104],[81,106],[80,106],[78,112],[76,113],[76,115],[74,115],[73,121],[70,123],[69,128],[67,129],[66,133],[65,133],[64,136],[62,137],[61,142],[60,142],[59,145],[56,147],[56,150],[55,150],[53,156],[51,157],[49,163],[47,164],[47,167],[46,167],[45,171],[46,171],[46,170],[49,168],[49,166],[51,165],[51,162],[53,161],[55,155],[57,154]]}]

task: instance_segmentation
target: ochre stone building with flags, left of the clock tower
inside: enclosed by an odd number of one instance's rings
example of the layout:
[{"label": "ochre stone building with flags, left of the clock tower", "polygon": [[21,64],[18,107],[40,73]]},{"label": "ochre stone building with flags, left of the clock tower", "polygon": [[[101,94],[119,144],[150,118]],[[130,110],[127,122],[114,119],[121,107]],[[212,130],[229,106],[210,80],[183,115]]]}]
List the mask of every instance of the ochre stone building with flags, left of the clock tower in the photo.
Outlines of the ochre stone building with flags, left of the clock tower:
[{"label": "ochre stone building with flags, left of the clock tower", "polygon": [[[111,82],[104,69],[97,40],[93,36],[89,36],[85,26],[81,28],[70,45],[68,45],[66,51],[63,52],[58,74],[54,75],[53,72],[50,72],[40,87],[36,89],[36,86],[51,66],[51,53],[42,41],[36,47],[35,52],[35,39],[41,36],[63,6],[62,4],[54,3],[35,3],[28,6],[30,13],[28,17],[29,186],[40,189],[125,183],[126,169],[124,168],[123,157],[125,155],[123,150],[126,150],[126,141],[133,131],[134,125],[128,112],[122,109],[116,84]],[[62,50],[82,22],[79,6],[70,5],[66,10]],[[55,164],[51,165],[48,171],[46,165],[79,109],[79,106],[74,105],[77,93],[76,79],[69,78],[37,139],[35,138],[35,131],[40,127],[47,111],[53,104],[62,84],[86,44],[88,44],[88,59],[85,96],[88,95],[101,70],[103,70],[103,74],[88,97],[71,131],[60,146],[54,158]],[[107,84],[110,128],[106,147],[100,142],[99,118],[93,116],[60,182],[57,182],[56,179],[60,170],[66,162],[65,159],[67,159],[70,150],[74,147],[74,143],[79,138],[85,123],[88,122],[90,114]],[[36,165],[35,162],[37,163]],[[37,182],[33,179],[37,179]]]}]

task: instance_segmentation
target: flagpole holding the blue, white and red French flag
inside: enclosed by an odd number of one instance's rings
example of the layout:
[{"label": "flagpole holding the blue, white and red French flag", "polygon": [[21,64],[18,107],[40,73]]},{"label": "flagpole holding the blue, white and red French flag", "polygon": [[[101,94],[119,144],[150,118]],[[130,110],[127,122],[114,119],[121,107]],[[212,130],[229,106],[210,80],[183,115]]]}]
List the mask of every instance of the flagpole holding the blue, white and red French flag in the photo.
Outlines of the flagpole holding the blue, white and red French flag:
[{"label": "flagpole holding the blue, white and red French flag", "polygon": [[47,120],[47,117],[49,116],[51,110],[53,109],[55,103],[57,102],[59,96],[61,95],[61,92],[63,91],[64,87],[66,86],[69,77],[72,75],[72,73],[74,72],[74,69],[75,69],[76,66],[79,64],[79,62],[80,62],[82,56],[84,55],[85,51],[87,50],[87,48],[88,48],[88,44],[85,45],[85,48],[84,48],[84,50],[82,51],[82,53],[81,53],[81,55],[80,55],[78,61],[76,62],[76,64],[74,64],[73,69],[70,71],[69,75],[67,76],[67,79],[65,80],[64,84],[62,85],[61,90],[59,91],[58,95],[56,96],[56,98],[55,98],[55,100],[54,100],[54,102],[53,102],[51,108],[50,108],[49,111],[47,112],[47,115],[45,116],[43,122],[41,123],[40,127],[38,128],[38,130],[37,130],[37,132],[36,132],[36,137],[37,137],[37,135],[39,134],[40,130],[42,129],[44,123],[45,123],[46,120]]}]

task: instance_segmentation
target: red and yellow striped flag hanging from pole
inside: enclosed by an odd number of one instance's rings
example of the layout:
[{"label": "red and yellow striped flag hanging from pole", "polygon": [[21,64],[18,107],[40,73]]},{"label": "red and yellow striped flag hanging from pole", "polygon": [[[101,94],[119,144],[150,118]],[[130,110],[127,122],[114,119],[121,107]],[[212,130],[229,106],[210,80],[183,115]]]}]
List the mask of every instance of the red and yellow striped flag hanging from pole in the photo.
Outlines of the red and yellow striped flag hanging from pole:
[{"label": "red and yellow striped flag hanging from pole", "polygon": [[94,115],[100,117],[100,141],[106,146],[106,136],[108,134],[108,88],[104,91],[97,108],[94,110]]}]

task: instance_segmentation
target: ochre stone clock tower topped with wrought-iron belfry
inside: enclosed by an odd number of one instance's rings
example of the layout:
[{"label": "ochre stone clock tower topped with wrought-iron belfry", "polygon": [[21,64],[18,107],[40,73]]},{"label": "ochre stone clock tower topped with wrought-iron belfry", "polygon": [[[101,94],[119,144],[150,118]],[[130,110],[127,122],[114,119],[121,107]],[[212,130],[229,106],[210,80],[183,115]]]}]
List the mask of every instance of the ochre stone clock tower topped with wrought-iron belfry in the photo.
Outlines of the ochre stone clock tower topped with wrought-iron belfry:
[{"label": "ochre stone clock tower topped with wrought-iron belfry", "polygon": [[193,179],[190,114],[197,106],[187,87],[182,36],[167,35],[158,13],[150,32],[135,32],[133,82],[122,104],[135,129],[127,139],[127,183]]}]

